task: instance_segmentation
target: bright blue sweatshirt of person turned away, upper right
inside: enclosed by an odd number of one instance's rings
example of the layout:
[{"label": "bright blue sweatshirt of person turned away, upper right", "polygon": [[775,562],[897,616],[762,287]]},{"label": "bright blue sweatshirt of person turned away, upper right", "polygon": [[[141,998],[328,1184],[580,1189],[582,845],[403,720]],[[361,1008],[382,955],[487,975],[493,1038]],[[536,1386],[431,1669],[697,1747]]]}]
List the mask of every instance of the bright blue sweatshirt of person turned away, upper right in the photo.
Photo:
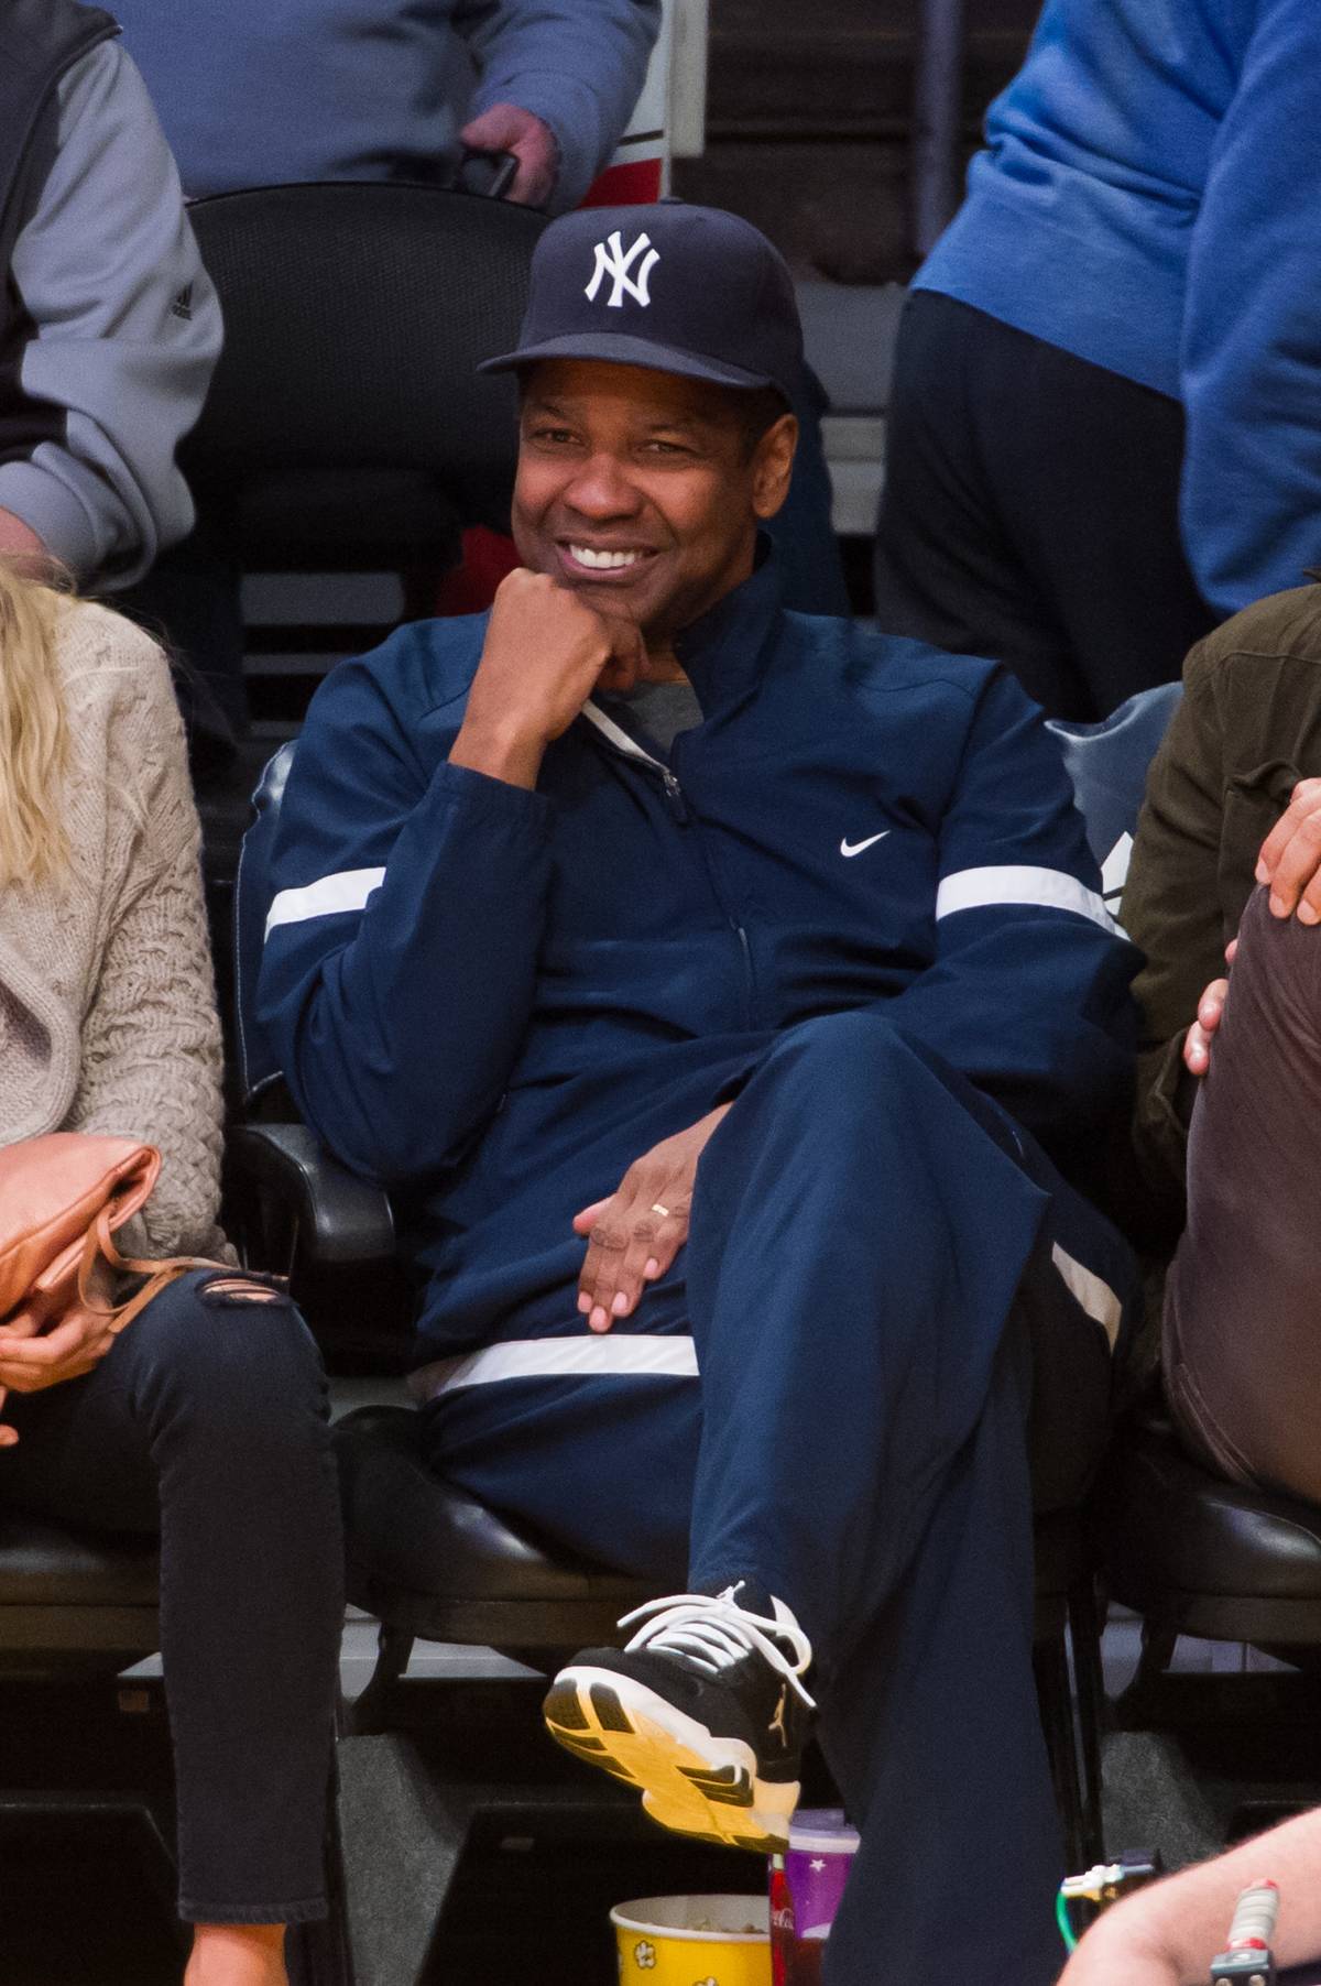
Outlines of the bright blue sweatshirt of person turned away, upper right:
[{"label": "bright blue sweatshirt of person turned away, upper right", "polygon": [[1047,0],[916,278],[1182,399],[1222,614],[1321,558],[1317,75],[1317,0]]}]

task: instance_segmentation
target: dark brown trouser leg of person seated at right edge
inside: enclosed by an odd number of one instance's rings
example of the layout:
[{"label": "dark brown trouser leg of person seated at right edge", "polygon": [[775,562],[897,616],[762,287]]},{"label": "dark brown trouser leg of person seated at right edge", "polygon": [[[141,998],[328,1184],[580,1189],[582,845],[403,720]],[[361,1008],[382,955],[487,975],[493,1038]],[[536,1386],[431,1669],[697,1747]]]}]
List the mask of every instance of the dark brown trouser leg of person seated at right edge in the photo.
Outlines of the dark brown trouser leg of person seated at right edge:
[{"label": "dark brown trouser leg of person seated at right edge", "polygon": [[1192,1116],[1164,1370],[1194,1454],[1321,1501],[1321,925],[1265,890]]}]

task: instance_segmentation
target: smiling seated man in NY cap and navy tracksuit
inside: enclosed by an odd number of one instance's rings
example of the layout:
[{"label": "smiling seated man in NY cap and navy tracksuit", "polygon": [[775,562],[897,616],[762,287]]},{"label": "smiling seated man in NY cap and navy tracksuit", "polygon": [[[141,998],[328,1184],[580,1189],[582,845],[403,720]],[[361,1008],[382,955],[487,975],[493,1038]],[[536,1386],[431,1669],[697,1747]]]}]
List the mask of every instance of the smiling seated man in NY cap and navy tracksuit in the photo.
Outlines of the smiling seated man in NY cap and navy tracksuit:
[{"label": "smiling seated man in NY cap and navy tracksuit", "polygon": [[1009,677],[781,608],[799,354],[729,214],[546,230],[524,564],[318,693],[260,1003],[415,1215],[433,1468],[656,1583],[554,1736],[765,1851],[814,1706],[830,1986],[1045,1986],[1029,1446],[1075,1497],[1132,1291],[1047,1150],[1122,1106],[1136,961]]}]

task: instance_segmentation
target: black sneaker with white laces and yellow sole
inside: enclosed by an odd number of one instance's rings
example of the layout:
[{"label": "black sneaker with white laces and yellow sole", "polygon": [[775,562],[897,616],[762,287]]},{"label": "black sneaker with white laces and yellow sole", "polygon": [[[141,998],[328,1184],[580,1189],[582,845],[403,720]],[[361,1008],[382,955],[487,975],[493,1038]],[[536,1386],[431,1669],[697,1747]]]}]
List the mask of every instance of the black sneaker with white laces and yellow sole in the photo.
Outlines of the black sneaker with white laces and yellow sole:
[{"label": "black sneaker with white laces and yellow sole", "polygon": [[642,1787],[663,1827],[773,1855],[789,1845],[812,1698],[812,1648],[783,1601],[747,1581],[626,1615],[626,1648],[586,1648],[542,1714],[576,1758]]}]

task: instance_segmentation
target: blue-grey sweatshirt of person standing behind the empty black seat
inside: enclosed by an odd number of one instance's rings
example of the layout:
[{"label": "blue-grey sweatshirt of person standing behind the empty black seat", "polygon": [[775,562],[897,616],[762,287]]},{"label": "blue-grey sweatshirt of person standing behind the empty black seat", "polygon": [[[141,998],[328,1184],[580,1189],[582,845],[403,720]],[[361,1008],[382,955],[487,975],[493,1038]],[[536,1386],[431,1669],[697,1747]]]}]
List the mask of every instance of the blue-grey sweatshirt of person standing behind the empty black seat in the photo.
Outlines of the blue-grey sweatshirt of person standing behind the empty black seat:
[{"label": "blue-grey sweatshirt of person standing behind the empty black seat", "polygon": [[193,199],[435,179],[459,125],[518,103],[554,131],[562,213],[628,127],[660,0],[119,0],[115,16]]}]

